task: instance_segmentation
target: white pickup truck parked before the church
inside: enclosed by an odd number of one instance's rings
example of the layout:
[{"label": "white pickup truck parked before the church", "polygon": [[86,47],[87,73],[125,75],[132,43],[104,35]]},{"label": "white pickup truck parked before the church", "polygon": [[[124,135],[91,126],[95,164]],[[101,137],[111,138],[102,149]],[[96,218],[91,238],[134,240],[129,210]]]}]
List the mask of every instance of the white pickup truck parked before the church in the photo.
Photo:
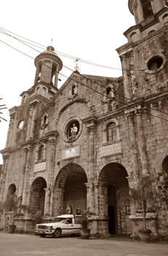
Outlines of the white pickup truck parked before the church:
[{"label": "white pickup truck parked before the church", "polygon": [[51,223],[37,224],[35,235],[45,237],[47,235],[59,237],[60,235],[79,234],[81,215],[64,214],[56,217]]}]

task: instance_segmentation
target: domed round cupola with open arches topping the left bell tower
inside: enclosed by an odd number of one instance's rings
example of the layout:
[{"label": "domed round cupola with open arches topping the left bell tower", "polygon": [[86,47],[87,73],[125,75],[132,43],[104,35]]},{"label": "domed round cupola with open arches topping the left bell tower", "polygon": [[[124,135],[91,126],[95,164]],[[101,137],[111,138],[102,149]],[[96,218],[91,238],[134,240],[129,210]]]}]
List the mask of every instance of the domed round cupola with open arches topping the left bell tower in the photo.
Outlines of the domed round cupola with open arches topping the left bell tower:
[{"label": "domed round cupola with open arches topping the left bell tower", "polygon": [[42,82],[57,88],[57,78],[63,62],[55,53],[55,48],[49,45],[47,50],[36,56],[34,64],[36,66],[34,85]]}]

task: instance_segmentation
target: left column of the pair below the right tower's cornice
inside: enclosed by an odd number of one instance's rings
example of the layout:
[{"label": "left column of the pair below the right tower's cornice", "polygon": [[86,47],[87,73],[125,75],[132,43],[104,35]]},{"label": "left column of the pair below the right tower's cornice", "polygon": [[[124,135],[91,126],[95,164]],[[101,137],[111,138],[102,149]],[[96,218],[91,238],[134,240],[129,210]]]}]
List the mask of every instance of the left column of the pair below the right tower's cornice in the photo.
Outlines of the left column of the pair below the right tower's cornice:
[{"label": "left column of the pair below the right tower's cornice", "polygon": [[137,142],[135,138],[135,124],[134,124],[134,112],[127,113],[129,124],[129,141],[130,141],[130,154],[132,160],[133,175],[137,178],[139,176],[139,165],[137,156]]}]

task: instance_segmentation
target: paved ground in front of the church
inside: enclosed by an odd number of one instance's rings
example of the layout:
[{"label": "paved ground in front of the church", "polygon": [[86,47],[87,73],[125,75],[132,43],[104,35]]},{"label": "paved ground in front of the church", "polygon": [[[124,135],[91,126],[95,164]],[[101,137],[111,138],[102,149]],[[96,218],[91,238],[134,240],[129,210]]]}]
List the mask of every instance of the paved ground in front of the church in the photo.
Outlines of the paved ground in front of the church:
[{"label": "paved ground in front of the church", "polygon": [[0,233],[0,255],[167,256],[168,243],[146,244],[121,237],[84,240],[80,237],[41,238]]}]

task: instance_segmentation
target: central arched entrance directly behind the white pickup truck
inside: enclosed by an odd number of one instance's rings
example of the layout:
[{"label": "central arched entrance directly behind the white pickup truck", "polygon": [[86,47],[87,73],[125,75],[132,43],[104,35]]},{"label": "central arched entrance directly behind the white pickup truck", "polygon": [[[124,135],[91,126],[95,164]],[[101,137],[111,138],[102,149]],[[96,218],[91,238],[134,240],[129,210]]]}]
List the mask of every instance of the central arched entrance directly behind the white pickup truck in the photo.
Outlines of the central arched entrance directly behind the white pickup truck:
[{"label": "central arched entrance directly behind the white pickup truck", "polygon": [[68,164],[60,170],[55,181],[54,214],[65,214],[71,206],[72,214],[87,208],[87,175],[80,165]]}]

